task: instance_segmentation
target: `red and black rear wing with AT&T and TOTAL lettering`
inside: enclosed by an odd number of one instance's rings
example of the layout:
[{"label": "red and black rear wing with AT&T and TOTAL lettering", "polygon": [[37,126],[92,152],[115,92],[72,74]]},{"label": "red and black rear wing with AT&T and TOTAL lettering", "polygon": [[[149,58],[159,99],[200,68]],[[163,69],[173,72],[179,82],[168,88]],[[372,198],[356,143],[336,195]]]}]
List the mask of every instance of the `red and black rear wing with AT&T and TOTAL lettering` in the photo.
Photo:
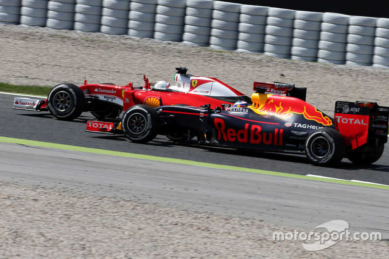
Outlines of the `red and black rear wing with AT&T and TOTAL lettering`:
[{"label": "red and black rear wing with AT&T and TOTAL lettering", "polygon": [[335,127],[346,146],[356,149],[366,143],[380,146],[388,142],[389,107],[370,102],[335,104]]}]

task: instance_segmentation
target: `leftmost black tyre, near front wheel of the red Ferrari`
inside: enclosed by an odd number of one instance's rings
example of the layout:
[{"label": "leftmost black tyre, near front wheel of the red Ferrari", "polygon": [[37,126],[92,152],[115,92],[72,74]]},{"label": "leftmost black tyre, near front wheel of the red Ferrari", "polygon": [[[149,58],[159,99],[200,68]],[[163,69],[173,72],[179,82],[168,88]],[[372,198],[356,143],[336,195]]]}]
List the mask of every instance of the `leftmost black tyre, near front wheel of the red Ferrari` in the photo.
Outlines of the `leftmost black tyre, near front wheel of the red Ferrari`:
[{"label": "leftmost black tyre, near front wheel of the red Ferrari", "polygon": [[84,93],[73,84],[54,86],[47,99],[50,113],[58,120],[74,120],[81,115],[85,107]]}]

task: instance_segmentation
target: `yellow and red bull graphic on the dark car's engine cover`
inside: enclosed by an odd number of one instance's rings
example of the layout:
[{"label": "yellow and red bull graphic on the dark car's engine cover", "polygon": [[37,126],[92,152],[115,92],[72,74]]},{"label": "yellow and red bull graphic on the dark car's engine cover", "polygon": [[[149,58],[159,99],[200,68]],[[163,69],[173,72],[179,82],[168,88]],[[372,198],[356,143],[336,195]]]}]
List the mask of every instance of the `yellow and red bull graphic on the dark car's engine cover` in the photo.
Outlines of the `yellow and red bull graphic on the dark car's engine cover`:
[{"label": "yellow and red bull graphic on the dark car's engine cover", "polygon": [[258,114],[269,114],[282,119],[288,119],[293,114],[302,114],[305,119],[316,121],[324,126],[332,125],[329,117],[304,101],[281,95],[257,94],[251,96],[253,111]]}]

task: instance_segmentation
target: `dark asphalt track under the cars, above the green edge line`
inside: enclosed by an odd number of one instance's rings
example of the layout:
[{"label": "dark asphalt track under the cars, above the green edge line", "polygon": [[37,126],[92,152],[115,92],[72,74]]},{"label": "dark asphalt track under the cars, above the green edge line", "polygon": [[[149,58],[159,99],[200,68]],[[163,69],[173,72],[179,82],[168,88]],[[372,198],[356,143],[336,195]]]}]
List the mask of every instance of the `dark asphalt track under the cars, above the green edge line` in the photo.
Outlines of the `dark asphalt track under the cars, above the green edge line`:
[{"label": "dark asphalt track under the cars, above the green edge line", "polygon": [[348,159],[343,159],[335,168],[324,168],[311,165],[304,155],[186,146],[173,143],[164,136],[157,136],[156,139],[147,144],[137,144],[120,135],[85,132],[86,122],[95,119],[89,112],[84,112],[74,121],[59,121],[48,112],[12,109],[15,97],[14,95],[0,94],[1,137],[389,185],[388,145],[386,145],[382,157],[369,166],[354,166]]}]

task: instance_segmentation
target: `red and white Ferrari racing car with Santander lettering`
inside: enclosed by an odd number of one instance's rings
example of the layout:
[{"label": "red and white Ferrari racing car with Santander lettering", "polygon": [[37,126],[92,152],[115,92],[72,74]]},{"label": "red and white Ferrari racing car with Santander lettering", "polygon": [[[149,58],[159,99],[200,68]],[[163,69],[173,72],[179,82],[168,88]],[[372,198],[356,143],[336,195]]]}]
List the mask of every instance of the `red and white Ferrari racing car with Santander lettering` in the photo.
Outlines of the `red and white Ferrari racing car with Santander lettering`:
[{"label": "red and white Ferrari racing car with Santander lettering", "polygon": [[15,98],[14,109],[50,111],[58,120],[71,121],[84,111],[90,111],[98,119],[118,118],[122,111],[135,104],[150,107],[160,105],[186,104],[200,106],[211,104],[233,104],[249,97],[231,86],[211,77],[186,74],[186,68],[176,68],[175,86],[159,81],[153,87],[144,77],[144,86],[134,88],[132,83],[115,86],[110,83],[75,86],[64,83],[54,86],[46,100]]}]

